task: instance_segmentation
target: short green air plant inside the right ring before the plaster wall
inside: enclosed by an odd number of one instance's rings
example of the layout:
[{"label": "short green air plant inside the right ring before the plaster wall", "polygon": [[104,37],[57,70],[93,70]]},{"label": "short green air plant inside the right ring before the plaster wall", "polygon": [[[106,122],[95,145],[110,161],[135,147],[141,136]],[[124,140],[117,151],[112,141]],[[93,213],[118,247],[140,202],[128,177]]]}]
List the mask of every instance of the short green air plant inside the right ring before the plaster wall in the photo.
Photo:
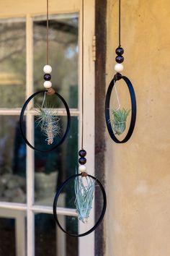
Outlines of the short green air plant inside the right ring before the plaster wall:
[{"label": "short green air plant inside the right ring before the plaster wall", "polygon": [[115,132],[115,135],[122,135],[122,133],[126,129],[126,119],[128,117],[128,114],[130,113],[130,109],[113,109],[112,115],[113,119],[110,120],[112,124],[112,128]]}]

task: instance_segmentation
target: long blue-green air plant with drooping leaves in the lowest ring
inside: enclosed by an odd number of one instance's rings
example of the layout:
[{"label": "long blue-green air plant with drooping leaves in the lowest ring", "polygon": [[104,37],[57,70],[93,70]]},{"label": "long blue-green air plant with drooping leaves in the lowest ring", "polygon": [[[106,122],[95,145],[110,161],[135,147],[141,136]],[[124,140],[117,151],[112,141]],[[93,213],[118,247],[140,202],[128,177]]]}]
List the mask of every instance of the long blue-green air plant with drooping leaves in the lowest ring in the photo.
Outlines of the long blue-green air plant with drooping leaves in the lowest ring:
[{"label": "long blue-green air plant with drooping leaves in the lowest ring", "polygon": [[78,213],[79,220],[83,223],[86,223],[89,218],[94,199],[94,187],[95,181],[89,176],[78,176],[75,178],[74,189],[76,195],[76,213]]}]

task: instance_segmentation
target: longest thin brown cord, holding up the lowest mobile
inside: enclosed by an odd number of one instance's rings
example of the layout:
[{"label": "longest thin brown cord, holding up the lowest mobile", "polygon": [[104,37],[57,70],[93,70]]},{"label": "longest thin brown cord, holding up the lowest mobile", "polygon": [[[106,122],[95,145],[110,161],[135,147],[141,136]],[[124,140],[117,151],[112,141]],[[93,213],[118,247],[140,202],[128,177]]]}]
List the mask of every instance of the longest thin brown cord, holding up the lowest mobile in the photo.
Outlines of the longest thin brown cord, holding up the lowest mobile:
[{"label": "longest thin brown cord, holding up the lowest mobile", "polygon": [[82,0],[82,123],[81,123],[81,149],[84,149],[84,0]]}]

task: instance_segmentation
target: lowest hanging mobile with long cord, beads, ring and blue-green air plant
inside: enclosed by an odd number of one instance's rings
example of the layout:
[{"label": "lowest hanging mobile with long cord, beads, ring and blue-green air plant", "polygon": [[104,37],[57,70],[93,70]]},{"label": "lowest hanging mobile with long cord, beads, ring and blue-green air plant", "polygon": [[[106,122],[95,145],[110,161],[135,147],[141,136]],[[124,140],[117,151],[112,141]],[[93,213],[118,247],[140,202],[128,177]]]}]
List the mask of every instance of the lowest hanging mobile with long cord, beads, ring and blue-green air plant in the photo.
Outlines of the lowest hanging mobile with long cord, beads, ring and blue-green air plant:
[{"label": "lowest hanging mobile with long cord, beads, ring and blue-green air plant", "polygon": [[[79,171],[76,171],[76,174],[68,177],[63,184],[61,184],[61,187],[56,192],[54,202],[53,202],[53,216],[55,218],[56,223],[61,228],[61,230],[68,234],[69,236],[86,236],[90,234],[92,231],[97,229],[97,226],[99,226],[99,223],[101,223],[102,219],[104,218],[104,214],[107,208],[107,197],[106,193],[104,191],[104,187],[102,186],[101,182],[89,174],[87,174],[86,171],[86,150],[84,150],[84,0],[82,0],[82,135],[81,135],[81,150],[79,150]],[[103,197],[103,205],[102,205],[102,211],[101,215],[99,216],[97,222],[94,224],[94,226],[89,229],[88,231],[82,233],[82,234],[73,234],[66,229],[63,229],[63,226],[61,226],[61,223],[58,221],[58,213],[57,213],[57,205],[58,205],[58,198],[61,195],[61,192],[63,189],[71,182],[71,180],[74,180],[74,192],[75,192],[75,206],[76,206],[76,213],[79,218],[79,221],[84,223],[84,225],[87,223],[88,218],[91,213],[91,208],[93,205],[94,200],[94,192],[95,187],[99,187],[99,189],[102,192]]]}]

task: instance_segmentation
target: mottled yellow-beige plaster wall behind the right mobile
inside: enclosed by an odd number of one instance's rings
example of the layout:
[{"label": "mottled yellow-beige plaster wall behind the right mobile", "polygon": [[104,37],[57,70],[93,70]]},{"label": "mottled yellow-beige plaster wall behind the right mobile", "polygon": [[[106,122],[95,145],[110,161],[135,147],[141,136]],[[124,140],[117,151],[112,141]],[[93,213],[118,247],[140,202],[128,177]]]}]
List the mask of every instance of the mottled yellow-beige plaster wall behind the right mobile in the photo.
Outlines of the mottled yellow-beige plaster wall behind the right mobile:
[{"label": "mottled yellow-beige plaster wall behind the right mobile", "polygon": [[[115,64],[117,3],[108,1],[107,84]],[[170,1],[122,1],[122,47],[138,115],[125,145],[107,133],[106,255],[169,256]]]}]

